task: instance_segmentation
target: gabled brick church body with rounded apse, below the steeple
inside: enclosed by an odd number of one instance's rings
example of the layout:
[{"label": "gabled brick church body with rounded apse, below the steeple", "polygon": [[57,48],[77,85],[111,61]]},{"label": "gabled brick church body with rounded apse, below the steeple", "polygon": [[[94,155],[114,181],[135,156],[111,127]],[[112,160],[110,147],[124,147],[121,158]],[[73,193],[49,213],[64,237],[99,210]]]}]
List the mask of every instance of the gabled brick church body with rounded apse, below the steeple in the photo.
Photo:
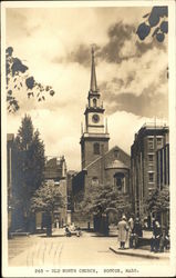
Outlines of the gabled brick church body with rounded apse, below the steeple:
[{"label": "gabled brick church body with rounded apse, below the steeple", "polygon": [[108,183],[113,190],[121,180],[121,191],[130,193],[130,156],[115,146],[104,156],[92,161],[73,178],[73,195],[79,195],[80,191],[83,191],[84,196],[89,195],[94,183]]}]

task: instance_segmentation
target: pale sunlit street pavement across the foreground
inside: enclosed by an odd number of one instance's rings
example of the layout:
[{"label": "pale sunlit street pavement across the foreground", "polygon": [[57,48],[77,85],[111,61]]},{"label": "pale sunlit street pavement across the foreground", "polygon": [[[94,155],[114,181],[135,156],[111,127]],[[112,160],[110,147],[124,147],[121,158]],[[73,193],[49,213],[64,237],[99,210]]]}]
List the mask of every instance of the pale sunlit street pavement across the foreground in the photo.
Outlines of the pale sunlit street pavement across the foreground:
[{"label": "pale sunlit street pavement across the foreground", "polygon": [[[122,256],[110,250],[117,246],[116,237],[97,237],[83,231],[81,237],[65,237],[63,229],[55,230],[53,236],[31,235],[9,240],[9,266],[120,266],[120,264],[161,264],[159,259]],[[149,252],[149,251],[147,251]],[[163,260],[162,264],[168,264]]]}]

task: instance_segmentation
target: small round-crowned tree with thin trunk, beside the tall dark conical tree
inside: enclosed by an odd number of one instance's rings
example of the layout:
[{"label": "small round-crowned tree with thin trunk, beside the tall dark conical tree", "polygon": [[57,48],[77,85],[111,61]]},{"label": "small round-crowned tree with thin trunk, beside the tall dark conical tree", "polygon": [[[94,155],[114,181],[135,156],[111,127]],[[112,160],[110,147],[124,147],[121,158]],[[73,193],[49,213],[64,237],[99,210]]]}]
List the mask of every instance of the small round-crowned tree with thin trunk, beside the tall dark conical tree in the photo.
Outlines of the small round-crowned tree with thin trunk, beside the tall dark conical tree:
[{"label": "small round-crowned tree with thin trunk, beside the tall dark conical tree", "polygon": [[44,212],[46,221],[46,235],[52,235],[52,218],[55,209],[62,208],[65,203],[60,188],[52,181],[43,183],[31,199],[30,209],[32,212]]}]

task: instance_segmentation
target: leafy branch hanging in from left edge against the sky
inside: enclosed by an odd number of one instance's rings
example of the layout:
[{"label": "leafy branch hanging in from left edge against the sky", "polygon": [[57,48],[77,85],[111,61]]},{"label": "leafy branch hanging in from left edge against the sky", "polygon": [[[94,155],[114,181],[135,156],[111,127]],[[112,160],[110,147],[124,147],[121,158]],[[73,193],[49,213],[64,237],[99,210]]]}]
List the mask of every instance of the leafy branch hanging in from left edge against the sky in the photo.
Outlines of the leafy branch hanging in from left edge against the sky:
[{"label": "leafy branch hanging in from left edge against the sky", "polygon": [[17,91],[27,90],[28,98],[35,97],[38,101],[45,100],[45,93],[54,96],[51,86],[42,86],[37,82],[34,77],[29,76],[28,67],[17,57],[12,56],[13,48],[8,47],[6,50],[6,78],[7,78],[7,102],[8,111],[15,112],[19,110],[19,101],[15,97]]}]

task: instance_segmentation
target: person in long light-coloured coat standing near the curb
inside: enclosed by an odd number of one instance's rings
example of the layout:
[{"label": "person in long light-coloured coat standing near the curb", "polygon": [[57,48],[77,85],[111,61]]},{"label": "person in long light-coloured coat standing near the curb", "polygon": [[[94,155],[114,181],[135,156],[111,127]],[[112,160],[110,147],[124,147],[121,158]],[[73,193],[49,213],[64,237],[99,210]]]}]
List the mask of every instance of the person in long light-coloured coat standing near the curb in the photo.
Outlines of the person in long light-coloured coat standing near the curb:
[{"label": "person in long light-coloured coat standing near the curb", "polygon": [[126,217],[124,215],[122,217],[122,220],[117,225],[117,229],[118,229],[120,249],[125,249],[125,241],[127,240],[128,225],[126,221]]}]

